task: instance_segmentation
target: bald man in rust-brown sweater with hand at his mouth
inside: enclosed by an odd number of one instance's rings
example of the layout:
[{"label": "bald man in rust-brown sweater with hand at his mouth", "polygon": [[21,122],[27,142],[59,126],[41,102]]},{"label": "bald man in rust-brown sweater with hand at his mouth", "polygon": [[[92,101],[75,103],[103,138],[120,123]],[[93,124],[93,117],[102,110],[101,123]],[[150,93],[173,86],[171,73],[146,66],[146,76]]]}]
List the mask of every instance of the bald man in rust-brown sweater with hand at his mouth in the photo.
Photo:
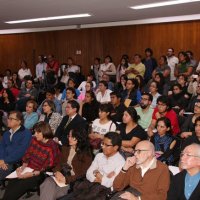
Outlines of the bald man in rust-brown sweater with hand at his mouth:
[{"label": "bald man in rust-brown sweater with hand at his mouth", "polygon": [[113,187],[121,191],[130,186],[140,193],[138,197],[130,192],[122,193],[120,197],[127,200],[166,200],[169,183],[168,167],[156,160],[153,144],[141,141],[135,147],[135,156],[127,158]]}]

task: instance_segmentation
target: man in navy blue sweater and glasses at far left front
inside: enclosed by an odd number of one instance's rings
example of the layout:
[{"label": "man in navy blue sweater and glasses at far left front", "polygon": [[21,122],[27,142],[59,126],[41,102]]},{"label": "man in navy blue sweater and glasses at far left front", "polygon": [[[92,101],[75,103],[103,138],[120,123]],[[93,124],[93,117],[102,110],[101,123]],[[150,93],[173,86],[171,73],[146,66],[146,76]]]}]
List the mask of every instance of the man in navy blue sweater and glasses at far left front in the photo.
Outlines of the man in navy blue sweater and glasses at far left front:
[{"label": "man in navy blue sweater and glasses at far left front", "polygon": [[8,128],[0,141],[0,181],[14,170],[29,147],[32,135],[23,126],[24,118],[21,112],[11,111],[8,116]]}]

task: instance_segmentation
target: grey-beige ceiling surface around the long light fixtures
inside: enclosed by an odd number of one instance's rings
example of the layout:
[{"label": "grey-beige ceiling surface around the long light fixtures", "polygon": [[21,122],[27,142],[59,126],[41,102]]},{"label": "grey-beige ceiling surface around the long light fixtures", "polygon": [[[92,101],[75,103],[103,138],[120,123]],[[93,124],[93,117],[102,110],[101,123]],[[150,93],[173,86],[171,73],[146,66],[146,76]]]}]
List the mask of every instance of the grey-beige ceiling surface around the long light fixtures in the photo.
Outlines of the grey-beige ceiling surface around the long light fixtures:
[{"label": "grey-beige ceiling surface around the long light fixtures", "polygon": [[[200,14],[200,2],[133,10],[130,6],[159,0],[0,0],[0,31],[123,22],[149,18]],[[77,19],[6,24],[5,21],[89,13]],[[200,19],[200,18],[199,18]]]}]

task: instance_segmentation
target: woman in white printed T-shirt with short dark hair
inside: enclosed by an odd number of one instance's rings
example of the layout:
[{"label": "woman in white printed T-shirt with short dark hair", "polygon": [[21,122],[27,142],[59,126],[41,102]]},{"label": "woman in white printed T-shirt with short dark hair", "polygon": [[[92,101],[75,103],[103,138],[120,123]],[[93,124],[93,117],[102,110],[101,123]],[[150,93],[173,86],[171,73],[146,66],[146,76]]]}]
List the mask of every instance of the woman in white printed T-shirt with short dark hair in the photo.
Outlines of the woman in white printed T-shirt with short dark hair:
[{"label": "woman in white printed T-shirt with short dark hair", "polygon": [[89,134],[93,152],[97,153],[101,146],[101,141],[107,132],[115,131],[116,125],[110,120],[111,104],[101,104],[99,106],[99,118],[92,123],[92,130]]}]

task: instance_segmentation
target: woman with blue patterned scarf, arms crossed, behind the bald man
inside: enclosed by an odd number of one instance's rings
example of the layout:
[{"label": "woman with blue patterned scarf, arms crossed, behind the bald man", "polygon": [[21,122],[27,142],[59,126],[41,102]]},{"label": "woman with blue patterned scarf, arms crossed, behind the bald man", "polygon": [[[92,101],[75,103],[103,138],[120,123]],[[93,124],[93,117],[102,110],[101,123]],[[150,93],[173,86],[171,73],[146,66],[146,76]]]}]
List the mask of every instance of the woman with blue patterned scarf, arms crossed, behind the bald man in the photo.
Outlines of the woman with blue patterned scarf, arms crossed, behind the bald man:
[{"label": "woman with blue patterned scarf, arms crossed, behind the bald man", "polygon": [[174,161],[173,152],[176,139],[172,135],[171,122],[166,117],[161,117],[156,122],[157,132],[151,137],[150,141],[155,146],[156,157],[168,165]]}]

